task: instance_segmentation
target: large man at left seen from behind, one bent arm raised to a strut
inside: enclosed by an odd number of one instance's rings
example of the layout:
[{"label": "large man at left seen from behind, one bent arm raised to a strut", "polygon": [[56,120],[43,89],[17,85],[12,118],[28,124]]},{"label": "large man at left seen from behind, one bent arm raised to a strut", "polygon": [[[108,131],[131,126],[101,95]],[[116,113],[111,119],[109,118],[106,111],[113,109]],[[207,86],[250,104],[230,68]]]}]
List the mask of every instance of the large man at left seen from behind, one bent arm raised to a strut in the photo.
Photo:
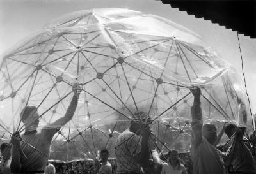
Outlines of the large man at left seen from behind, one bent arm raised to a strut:
[{"label": "large man at left seen from behind, one bent arm raised to a strut", "polygon": [[[20,120],[24,123],[25,133],[12,135],[13,158],[11,169],[13,173],[44,173],[50,154],[52,138],[62,126],[69,122],[76,111],[81,89],[78,83],[73,85],[73,97],[67,112],[55,122],[47,124],[38,130],[39,119],[42,115],[36,106],[26,106],[20,113]],[[24,157],[20,155],[24,154]]]}]

